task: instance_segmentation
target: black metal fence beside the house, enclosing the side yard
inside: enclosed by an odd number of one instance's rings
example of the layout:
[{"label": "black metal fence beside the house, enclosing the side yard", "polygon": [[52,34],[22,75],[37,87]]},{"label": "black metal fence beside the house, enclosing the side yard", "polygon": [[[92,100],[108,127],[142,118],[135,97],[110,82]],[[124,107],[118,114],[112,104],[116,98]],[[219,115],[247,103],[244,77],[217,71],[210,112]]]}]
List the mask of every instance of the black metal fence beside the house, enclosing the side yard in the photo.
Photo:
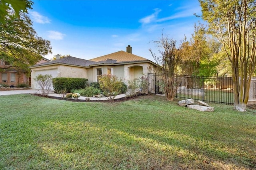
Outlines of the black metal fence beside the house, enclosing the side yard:
[{"label": "black metal fence beside the house, enclosing the side yard", "polygon": [[[232,77],[176,76],[176,98],[234,104]],[[148,93],[165,96],[162,74],[148,73]]]}]

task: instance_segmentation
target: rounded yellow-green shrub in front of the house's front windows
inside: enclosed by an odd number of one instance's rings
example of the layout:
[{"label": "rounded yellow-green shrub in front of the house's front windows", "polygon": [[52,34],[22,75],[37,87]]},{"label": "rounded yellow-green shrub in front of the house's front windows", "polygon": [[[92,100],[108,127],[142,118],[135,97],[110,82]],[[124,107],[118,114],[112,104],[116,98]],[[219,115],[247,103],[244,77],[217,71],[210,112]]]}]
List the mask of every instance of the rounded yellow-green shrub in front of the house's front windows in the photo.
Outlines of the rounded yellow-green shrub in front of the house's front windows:
[{"label": "rounded yellow-green shrub in front of the house's front windows", "polygon": [[122,80],[118,79],[114,75],[102,75],[99,78],[100,88],[103,90],[103,94],[108,98],[108,100],[114,100],[116,95],[121,93],[121,88],[123,86]]}]

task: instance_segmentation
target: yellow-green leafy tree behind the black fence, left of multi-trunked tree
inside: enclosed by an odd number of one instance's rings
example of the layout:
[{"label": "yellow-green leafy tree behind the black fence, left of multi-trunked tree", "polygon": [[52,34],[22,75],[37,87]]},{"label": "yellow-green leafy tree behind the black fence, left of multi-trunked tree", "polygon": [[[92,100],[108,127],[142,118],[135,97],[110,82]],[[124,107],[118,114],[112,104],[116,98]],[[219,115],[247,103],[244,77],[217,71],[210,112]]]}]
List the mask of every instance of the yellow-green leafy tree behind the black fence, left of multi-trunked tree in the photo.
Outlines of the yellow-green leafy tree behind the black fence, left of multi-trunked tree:
[{"label": "yellow-green leafy tree behind the black fence, left of multi-trunked tree", "polygon": [[[180,56],[181,74],[194,75],[194,76],[212,76],[216,74],[216,65],[212,54],[213,50],[208,43],[206,37],[206,27],[202,23],[194,25],[194,33],[192,38],[188,41],[183,39],[182,44],[178,49]],[[213,44],[214,45],[214,44]]]}]

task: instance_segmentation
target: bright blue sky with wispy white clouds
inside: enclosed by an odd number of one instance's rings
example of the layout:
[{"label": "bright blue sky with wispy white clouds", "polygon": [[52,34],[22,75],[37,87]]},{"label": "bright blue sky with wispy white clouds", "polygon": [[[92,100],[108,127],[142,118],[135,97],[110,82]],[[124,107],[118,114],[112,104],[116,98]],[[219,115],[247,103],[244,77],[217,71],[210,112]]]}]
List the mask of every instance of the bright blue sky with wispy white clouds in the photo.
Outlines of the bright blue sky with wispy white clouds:
[{"label": "bright blue sky with wispy white clouds", "polygon": [[38,36],[51,41],[56,54],[92,59],[132,47],[132,53],[154,61],[152,41],[163,33],[180,43],[190,38],[197,0],[34,0],[29,11]]}]

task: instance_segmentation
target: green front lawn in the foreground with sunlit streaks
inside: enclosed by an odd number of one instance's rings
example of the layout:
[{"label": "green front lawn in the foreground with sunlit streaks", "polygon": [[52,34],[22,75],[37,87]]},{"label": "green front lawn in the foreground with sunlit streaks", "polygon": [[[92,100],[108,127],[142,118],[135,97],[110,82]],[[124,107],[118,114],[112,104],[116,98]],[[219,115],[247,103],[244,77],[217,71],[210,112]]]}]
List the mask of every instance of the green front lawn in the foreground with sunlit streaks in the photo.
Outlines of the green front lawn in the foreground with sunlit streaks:
[{"label": "green front lawn in the foreground with sunlit streaks", "polygon": [[0,96],[0,169],[256,169],[256,110]]}]

